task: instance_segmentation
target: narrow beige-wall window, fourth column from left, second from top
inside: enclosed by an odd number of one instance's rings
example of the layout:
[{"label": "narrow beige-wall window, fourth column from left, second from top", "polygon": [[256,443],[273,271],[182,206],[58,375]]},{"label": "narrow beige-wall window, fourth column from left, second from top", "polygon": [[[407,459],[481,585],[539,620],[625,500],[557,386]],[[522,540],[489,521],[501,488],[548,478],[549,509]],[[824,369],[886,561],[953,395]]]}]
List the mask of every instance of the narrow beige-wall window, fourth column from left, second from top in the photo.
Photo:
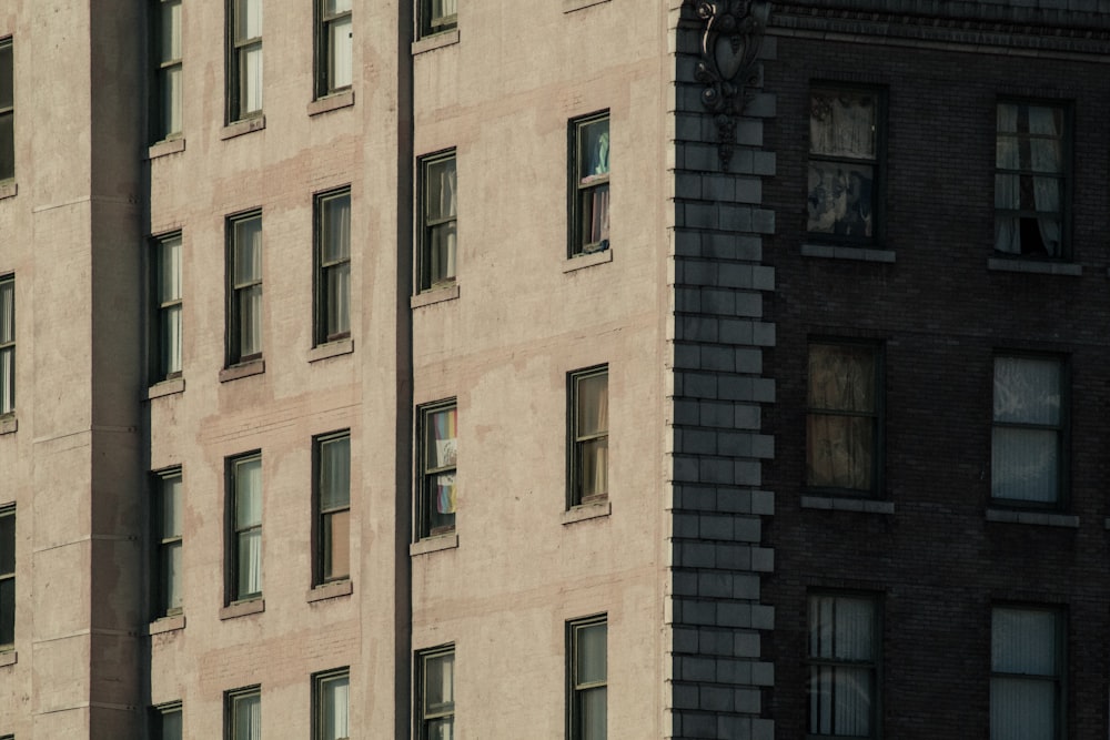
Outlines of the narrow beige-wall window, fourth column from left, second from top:
[{"label": "narrow beige-wall window, fourth column from left, second from top", "polygon": [[316,344],[351,336],[351,189],[316,196]]}]

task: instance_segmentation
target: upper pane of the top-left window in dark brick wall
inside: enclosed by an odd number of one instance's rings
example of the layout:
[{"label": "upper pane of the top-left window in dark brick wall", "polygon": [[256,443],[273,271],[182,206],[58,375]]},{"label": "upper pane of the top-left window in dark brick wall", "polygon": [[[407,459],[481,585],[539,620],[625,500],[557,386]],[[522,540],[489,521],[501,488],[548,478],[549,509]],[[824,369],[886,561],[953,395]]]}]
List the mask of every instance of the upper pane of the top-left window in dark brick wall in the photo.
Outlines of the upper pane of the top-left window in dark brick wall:
[{"label": "upper pane of the top-left window in dark brick wall", "polygon": [[810,97],[811,154],[874,160],[876,95],[867,91],[816,90]]}]

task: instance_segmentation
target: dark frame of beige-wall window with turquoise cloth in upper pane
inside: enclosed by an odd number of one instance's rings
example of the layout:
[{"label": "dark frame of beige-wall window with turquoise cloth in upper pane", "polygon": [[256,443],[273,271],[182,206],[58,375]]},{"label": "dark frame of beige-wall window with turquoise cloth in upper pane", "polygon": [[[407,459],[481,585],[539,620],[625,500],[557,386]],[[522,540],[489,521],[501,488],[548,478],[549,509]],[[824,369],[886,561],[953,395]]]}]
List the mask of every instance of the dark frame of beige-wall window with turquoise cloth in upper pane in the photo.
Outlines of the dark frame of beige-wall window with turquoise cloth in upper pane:
[{"label": "dark frame of beige-wall window with turquoise cloth in upper pane", "polygon": [[[586,159],[586,154],[583,151],[583,146],[587,144],[587,138],[584,135],[584,132],[589,126],[602,122],[605,122],[605,172],[584,173],[583,162]],[[613,172],[613,148],[610,138],[612,116],[609,109],[572,119],[568,123],[567,132],[567,259],[573,259],[581,257],[586,254],[594,254],[596,252],[605,252],[609,249],[609,239],[607,235],[609,229],[608,225],[602,230],[605,236],[602,236],[597,241],[589,241],[586,237],[585,221],[587,214],[586,209],[584,207],[584,202],[587,196],[593,199],[595,194],[604,193],[605,213],[603,217],[606,224],[609,223],[612,213],[612,191],[609,189],[609,180]],[[594,220],[594,207],[595,206],[593,205],[592,200],[589,207],[591,223],[593,223]]]}]

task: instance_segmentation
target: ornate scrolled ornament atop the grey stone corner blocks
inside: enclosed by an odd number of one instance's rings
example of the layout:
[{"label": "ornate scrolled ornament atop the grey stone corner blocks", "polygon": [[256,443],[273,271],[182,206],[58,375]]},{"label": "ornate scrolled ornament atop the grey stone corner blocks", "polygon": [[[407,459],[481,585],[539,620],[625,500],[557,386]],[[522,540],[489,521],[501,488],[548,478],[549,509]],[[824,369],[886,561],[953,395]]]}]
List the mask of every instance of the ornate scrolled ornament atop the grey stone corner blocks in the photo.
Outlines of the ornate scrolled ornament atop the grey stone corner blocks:
[{"label": "ornate scrolled ornament atop the grey stone corner blocks", "polygon": [[705,21],[702,59],[694,79],[705,84],[702,103],[717,124],[720,169],[728,171],[736,143],[736,121],[748,88],[756,83],[756,58],[770,14],[766,0],[687,0]]}]

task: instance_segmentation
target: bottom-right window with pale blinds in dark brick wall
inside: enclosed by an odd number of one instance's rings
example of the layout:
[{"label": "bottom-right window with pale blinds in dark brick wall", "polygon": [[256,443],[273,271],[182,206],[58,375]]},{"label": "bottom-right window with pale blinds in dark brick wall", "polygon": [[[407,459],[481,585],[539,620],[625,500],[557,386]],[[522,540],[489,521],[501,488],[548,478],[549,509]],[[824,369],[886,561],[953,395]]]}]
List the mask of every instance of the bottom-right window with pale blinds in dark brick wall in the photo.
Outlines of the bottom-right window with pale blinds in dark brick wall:
[{"label": "bottom-right window with pale blinds in dark brick wall", "polygon": [[1064,614],[995,607],[990,625],[991,740],[1063,738]]}]

